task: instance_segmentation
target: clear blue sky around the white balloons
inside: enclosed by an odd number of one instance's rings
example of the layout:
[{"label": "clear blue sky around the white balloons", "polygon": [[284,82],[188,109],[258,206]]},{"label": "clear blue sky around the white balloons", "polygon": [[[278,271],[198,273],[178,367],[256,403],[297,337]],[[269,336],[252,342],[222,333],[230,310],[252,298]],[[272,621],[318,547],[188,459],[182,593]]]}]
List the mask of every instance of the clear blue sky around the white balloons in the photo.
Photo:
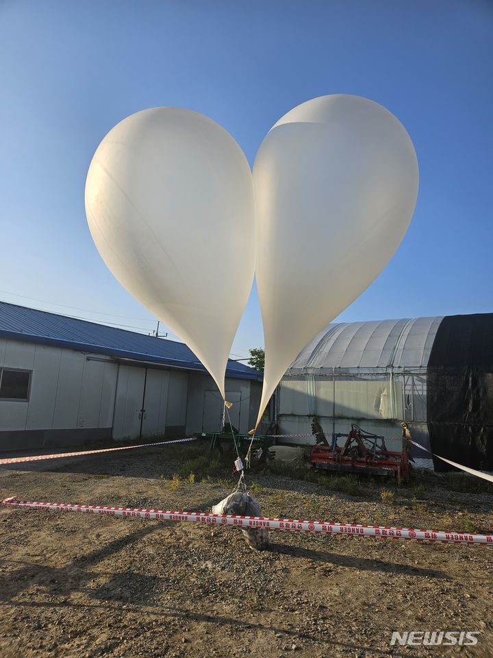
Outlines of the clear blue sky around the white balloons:
[{"label": "clear blue sky around the white balloons", "polygon": [[[352,93],[403,122],[420,193],[399,251],[340,319],[492,311],[492,34],[490,0],[0,0],[0,299],[151,330],[86,225],[101,138],[183,106],[253,163],[290,108]],[[262,344],[253,293],[233,352]]]}]

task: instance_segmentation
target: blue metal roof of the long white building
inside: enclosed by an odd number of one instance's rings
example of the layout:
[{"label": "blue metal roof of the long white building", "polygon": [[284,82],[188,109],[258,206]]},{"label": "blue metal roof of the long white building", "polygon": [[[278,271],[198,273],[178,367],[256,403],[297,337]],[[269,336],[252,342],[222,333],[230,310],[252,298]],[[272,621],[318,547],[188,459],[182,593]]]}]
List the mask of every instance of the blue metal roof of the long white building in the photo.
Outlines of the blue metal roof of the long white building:
[{"label": "blue metal roof of the long white building", "polygon": [[[184,343],[8,302],[0,302],[0,338],[205,372],[197,356]],[[262,381],[262,373],[231,359],[226,376]]]}]

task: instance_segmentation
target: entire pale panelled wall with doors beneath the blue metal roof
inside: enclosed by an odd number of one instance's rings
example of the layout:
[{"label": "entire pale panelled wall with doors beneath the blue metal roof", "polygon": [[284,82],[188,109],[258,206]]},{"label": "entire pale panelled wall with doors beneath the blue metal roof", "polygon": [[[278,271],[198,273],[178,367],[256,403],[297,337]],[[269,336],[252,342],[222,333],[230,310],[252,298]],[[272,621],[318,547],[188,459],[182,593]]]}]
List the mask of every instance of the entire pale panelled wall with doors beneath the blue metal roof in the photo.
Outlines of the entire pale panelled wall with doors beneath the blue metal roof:
[{"label": "entire pale panelled wall with doors beneath the blue metal roof", "polygon": [[[29,400],[0,400],[0,450],[110,437],[179,438],[218,428],[223,409],[207,374],[118,364],[101,355],[6,340],[0,340],[0,367],[32,371]],[[231,422],[242,432],[252,426],[260,395],[255,383],[251,398],[250,385],[249,380],[226,382],[234,402]]]}]

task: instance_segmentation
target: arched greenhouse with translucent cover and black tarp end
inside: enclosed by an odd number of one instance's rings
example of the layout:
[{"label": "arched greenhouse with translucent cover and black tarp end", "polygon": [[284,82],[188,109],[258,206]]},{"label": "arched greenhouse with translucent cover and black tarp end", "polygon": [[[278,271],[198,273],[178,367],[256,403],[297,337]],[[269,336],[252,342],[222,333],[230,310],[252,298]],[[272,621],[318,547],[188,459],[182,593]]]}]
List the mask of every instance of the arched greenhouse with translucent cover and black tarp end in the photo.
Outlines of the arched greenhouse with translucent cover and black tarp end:
[{"label": "arched greenhouse with translucent cover and black tarp end", "polygon": [[358,424],[399,450],[404,421],[425,448],[491,470],[492,337],[493,314],[331,324],[279,385],[279,432],[314,443],[316,417],[329,435]]}]

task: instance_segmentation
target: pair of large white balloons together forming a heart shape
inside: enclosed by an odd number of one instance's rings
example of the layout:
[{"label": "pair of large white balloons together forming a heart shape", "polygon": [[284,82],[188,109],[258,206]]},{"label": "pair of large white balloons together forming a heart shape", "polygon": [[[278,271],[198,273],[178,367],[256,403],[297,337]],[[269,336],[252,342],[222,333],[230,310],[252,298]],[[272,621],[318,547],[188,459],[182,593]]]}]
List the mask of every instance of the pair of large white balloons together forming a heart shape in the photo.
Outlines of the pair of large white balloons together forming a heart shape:
[{"label": "pair of large white balloons together forming a heart shape", "polygon": [[279,119],[253,173],[198,112],[132,114],[92,158],[86,213],[114,276],[187,343],[224,399],[255,274],[265,337],[257,426],[294,358],[388,263],[417,193],[416,153],[396,117],[331,95]]}]

